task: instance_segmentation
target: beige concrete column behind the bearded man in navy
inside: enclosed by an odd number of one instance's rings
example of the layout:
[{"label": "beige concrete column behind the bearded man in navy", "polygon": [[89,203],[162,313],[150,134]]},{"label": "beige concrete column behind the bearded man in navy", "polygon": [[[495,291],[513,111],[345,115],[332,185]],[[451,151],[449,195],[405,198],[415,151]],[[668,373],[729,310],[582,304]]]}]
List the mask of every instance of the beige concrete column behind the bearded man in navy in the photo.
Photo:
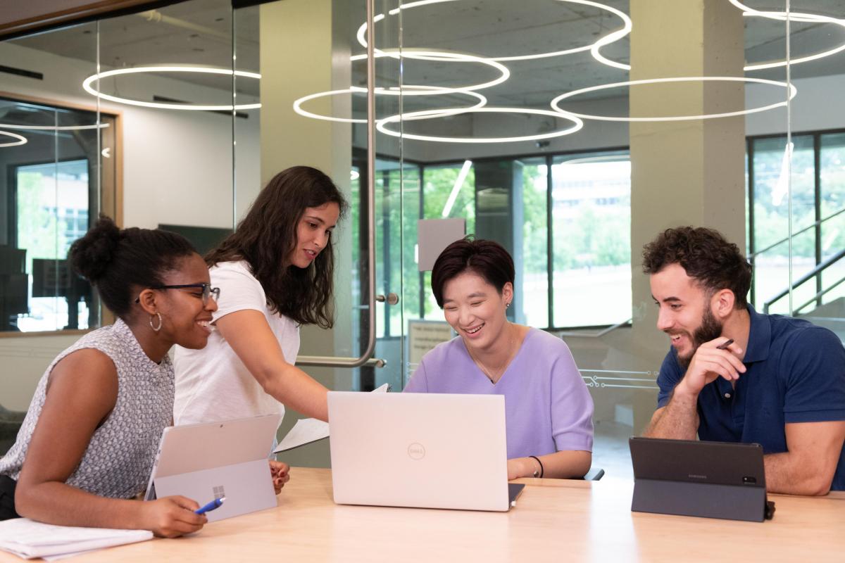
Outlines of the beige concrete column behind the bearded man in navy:
[{"label": "beige concrete column behind the bearded man in navy", "polygon": [[[741,12],[723,0],[631,0],[630,79],[743,76]],[[744,109],[739,82],[649,84],[630,88],[630,116],[704,115]],[[632,344],[656,369],[668,350],[641,273],[642,246],[678,225],[720,230],[745,247],[744,117],[634,122],[631,153]],[[635,405],[635,407],[638,405]],[[635,427],[654,409],[635,408]]]}]

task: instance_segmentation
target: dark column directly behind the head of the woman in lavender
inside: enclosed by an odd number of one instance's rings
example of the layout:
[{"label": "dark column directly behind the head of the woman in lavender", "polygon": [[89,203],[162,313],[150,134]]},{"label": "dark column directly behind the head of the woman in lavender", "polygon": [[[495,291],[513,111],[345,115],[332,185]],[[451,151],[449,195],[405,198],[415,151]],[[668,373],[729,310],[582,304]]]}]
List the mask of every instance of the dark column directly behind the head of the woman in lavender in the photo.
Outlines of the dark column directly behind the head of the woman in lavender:
[{"label": "dark column directly behind the head of the woman in lavender", "polygon": [[489,160],[473,163],[476,189],[476,228],[479,239],[504,246],[516,266],[514,300],[508,318],[525,322],[522,284],[522,163],[518,160]]}]

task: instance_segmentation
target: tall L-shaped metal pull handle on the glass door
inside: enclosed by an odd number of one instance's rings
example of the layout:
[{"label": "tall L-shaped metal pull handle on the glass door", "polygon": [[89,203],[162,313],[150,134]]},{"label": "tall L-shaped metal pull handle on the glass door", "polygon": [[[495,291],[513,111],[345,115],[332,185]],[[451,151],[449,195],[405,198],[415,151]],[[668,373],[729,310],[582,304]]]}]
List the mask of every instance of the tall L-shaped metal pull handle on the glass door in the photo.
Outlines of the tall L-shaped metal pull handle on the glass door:
[{"label": "tall L-shaped metal pull handle on the glass door", "polygon": [[368,340],[367,348],[358,358],[332,356],[298,356],[297,365],[320,367],[361,367],[374,365],[382,367],[384,360],[373,358],[375,351],[375,29],[373,26],[373,2],[367,0],[367,296],[368,296]]}]

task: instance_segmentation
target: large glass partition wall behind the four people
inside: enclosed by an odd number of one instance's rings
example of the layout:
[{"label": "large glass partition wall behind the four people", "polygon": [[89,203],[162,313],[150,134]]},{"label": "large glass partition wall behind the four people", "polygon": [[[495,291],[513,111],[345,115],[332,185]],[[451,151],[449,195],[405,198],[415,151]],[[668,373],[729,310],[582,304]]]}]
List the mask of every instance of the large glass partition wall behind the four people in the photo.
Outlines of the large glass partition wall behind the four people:
[{"label": "large glass partition wall behind the four people", "polygon": [[[189,0],[0,42],[0,404],[25,410],[67,331],[109,322],[64,262],[97,214],[208,250],[276,172],[312,165],[351,208],[306,371],[399,391],[452,335],[418,221],[463,219],[515,258],[511,320],[575,355],[594,464],[629,476],[668,350],[641,273],[658,232],[721,230],[759,311],[842,329],[845,14],[794,4]],[[383,367],[314,365],[363,355],[371,328]],[[326,445],[287,461],[325,465]]]}]

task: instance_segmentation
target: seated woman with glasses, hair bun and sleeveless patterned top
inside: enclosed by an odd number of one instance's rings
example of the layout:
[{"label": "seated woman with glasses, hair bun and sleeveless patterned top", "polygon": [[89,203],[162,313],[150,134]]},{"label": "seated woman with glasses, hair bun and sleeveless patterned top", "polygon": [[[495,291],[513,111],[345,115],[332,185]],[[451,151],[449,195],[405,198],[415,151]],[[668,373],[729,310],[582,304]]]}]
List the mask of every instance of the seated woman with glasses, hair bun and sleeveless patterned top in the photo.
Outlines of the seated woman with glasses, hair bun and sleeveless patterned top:
[{"label": "seated woman with glasses, hair bun and sleeveless patterned top", "polygon": [[173,344],[206,344],[219,290],[181,235],[120,230],[101,217],[68,254],[114,324],[85,334],[41,377],[17,441],[0,459],[0,520],[147,529],[202,528],[181,496],[138,501],[172,424]]}]

